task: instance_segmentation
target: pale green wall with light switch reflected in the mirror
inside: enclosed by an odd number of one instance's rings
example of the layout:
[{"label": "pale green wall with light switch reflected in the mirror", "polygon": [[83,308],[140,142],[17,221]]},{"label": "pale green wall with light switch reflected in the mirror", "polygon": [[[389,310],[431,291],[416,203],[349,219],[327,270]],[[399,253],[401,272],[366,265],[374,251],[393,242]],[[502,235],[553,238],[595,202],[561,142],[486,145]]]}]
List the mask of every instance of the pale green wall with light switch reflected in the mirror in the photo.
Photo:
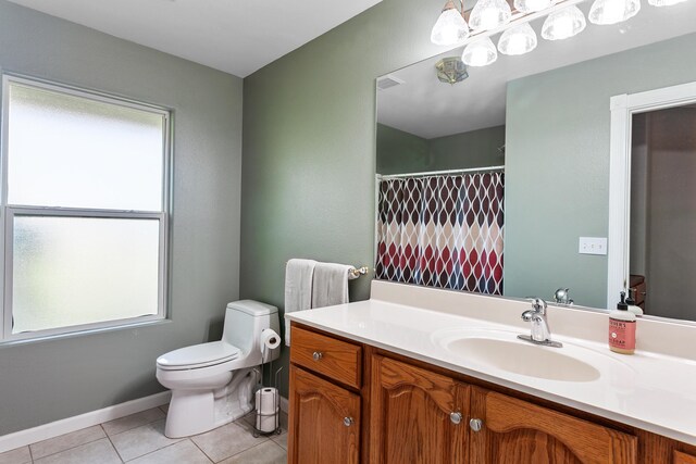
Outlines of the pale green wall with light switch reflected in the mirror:
[{"label": "pale green wall with light switch reflected in the mirror", "polygon": [[696,80],[695,49],[689,34],[508,84],[506,294],[568,286],[606,308],[607,256],[577,240],[608,234],[609,99]]}]

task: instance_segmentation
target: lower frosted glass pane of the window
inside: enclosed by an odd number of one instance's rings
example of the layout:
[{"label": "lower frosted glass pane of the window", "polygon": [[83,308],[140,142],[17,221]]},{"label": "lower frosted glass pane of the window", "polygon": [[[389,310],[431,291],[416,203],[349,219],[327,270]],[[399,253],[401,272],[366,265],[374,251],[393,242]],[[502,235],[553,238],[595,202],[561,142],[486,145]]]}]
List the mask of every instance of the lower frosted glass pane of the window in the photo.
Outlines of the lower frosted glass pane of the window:
[{"label": "lower frosted glass pane of the window", "polygon": [[158,314],[158,220],[14,216],[12,334]]}]

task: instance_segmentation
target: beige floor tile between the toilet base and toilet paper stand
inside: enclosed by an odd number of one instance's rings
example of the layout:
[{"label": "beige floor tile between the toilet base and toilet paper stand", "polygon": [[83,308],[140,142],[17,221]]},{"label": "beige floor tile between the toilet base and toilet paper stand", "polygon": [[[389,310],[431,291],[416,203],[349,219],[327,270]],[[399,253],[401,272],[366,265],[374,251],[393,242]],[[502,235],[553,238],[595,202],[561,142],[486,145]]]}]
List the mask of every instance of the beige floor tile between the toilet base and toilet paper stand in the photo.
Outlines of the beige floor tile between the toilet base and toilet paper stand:
[{"label": "beige floor tile between the toilet base and toilet paper stand", "polygon": [[249,424],[245,421],[239,421],[238,423],[227,424],[206,434],[191,437],[191,440],[208,457],[214,462],[219,462],[264,441],[269,441],[269,439],[263,436],[254,438],[251,435],[251,430]]}]

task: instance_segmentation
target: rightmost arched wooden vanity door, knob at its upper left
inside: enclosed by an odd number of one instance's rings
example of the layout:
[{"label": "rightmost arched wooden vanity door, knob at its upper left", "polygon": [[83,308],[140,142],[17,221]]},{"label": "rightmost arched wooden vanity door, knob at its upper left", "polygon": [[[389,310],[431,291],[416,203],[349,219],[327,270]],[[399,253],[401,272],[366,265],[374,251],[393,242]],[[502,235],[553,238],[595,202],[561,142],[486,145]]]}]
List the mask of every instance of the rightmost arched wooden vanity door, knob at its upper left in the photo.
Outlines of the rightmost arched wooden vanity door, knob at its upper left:
[{"label": "rightmost arched wooden vanity door, knob at its upper left", "polygon": [[500,393],[473,388],[470,434],[475,464],[633,464],[636,438]]}]

